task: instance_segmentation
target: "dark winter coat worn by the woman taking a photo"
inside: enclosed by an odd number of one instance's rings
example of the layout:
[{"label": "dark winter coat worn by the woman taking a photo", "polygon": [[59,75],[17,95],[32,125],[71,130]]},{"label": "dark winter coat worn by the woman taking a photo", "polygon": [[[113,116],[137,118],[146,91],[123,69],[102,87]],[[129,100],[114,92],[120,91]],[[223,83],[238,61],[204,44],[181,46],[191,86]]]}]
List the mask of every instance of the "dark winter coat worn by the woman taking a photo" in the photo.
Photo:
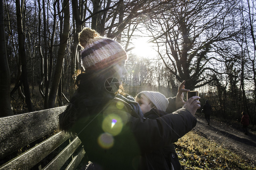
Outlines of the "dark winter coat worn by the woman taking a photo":
[{"label": "dark winter coat worn by the woman taking a photo", "polygon": [[127,98],[118,94],[105,102],[84,101],[78,107],[81,116],[74,130],[96,169],[153,170],[147,153],[176,142],[196,126],[196,118],[184,108],[144,119],[138,103]]}]

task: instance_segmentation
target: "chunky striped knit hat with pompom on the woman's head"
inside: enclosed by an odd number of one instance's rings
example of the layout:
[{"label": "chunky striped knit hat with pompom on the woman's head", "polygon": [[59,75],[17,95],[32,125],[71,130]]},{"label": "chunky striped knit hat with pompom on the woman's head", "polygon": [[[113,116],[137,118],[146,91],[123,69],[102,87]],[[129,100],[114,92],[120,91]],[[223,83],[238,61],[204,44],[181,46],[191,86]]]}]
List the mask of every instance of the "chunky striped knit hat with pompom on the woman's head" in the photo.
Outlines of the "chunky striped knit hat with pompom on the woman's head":
[{"label": "chunky striped knit hat with pompom on the woman's head", "polygon": [[85,70],[102,70],[110,65],[127,59],[125,50],[118,42],[102,36],[90,28],[79,33],[81,65]]}]

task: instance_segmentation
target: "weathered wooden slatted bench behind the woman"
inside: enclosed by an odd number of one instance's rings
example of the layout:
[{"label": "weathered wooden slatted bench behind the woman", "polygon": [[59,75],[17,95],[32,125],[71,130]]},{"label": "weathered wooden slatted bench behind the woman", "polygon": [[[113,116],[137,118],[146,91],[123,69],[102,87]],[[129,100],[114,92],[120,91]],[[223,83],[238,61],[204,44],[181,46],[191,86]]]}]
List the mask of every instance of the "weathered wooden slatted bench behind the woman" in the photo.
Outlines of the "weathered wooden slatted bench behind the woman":
[{"label": "weathered wooden slatted bench behind the woman", "polygon": [[57,132],[65,108],[1,117],[0,170],[76,169],[85,150],[78,137]]}]

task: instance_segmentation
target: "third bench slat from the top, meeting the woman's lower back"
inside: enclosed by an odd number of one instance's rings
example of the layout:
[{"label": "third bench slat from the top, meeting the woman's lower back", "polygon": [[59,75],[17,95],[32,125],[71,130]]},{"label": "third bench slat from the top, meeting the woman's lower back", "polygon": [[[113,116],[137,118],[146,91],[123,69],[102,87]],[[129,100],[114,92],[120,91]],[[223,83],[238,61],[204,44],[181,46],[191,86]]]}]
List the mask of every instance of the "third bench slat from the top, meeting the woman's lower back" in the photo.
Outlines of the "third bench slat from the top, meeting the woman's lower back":
[{"label": "third bench slat from the top, meeting the woman's lower back", "polygon": [[65,147],[65,149],[63,149],[63,151],[46,165],[43,170],[60,169],[80,144],[81,140],[76,137],[67,147]]}]

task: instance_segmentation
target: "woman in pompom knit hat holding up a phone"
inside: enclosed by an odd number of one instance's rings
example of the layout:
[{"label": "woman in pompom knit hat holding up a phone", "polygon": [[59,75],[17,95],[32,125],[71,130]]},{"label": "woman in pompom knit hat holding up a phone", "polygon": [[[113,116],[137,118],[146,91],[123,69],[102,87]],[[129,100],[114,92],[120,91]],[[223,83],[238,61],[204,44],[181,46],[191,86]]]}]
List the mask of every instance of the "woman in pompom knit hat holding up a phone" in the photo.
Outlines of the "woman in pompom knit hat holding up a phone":
[{"label": "woman in pompom knit hat holding up a phone", "polygon": [[[173,104],[174,110],[183,108],[143,119],[138,103],[119,88],[127,74],[127,54],[121,45],[90,28],[79,33],[79,44],[84,71],[77,76],[77,90],[68,107],[59,115],[59,129],[79,137],[95,169],[154,169],[159,163],[148,162],[147,153],[177,141],[196,125],[193,115],[200,108],[199,97],[184,102],[183,82]],[[164,157],[160,161],[164,164]]]}]

